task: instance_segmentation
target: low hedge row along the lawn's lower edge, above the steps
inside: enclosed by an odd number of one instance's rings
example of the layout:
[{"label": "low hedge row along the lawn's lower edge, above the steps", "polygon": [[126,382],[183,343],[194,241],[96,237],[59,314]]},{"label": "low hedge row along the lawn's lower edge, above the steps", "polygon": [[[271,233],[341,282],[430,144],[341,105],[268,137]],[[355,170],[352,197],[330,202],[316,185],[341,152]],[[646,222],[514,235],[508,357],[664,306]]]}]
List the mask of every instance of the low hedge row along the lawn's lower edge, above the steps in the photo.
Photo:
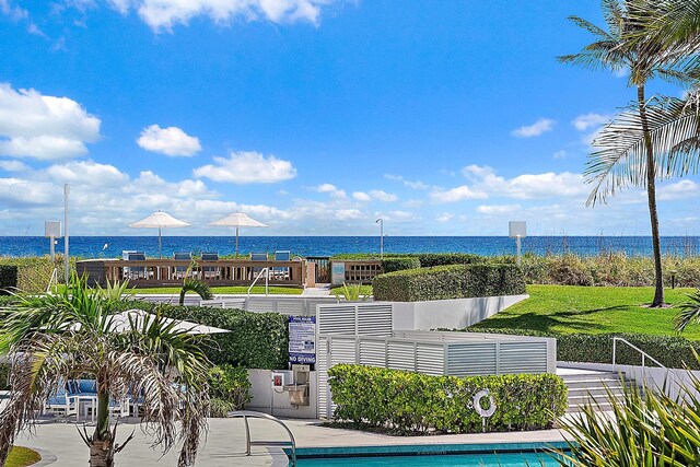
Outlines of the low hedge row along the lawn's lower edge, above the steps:
[{"label": "low hedge row along the lawn's lower edge, above the steps", "polygon": [[[652,336],[644,334],[567,334],[556,335],[529,329],[478,328],[469,332],[493,332],[522,336],[553,337],[557,339],[557,360],[564,362],[612,363],[612,337],[621,337],[639,347],[664,366],[669,369],[689,367],[700,370],[693,351],[700,354],[700,342],[676,336]],[[639,352],[629,346],[618,343],[616,361],[623,365],[641,365]],[[646,360],[645,365],[655,366]]]}]

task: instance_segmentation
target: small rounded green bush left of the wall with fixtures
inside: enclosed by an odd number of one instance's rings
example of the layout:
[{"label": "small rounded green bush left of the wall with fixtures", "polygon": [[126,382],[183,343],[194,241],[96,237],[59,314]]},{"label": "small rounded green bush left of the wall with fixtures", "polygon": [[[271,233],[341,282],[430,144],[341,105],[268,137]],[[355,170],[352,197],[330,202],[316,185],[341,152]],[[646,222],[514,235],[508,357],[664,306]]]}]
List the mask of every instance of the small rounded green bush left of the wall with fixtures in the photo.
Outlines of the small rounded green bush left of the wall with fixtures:
[{"label": "small rounded green bush left of the wall with fixtures", "polygon": [[232,410],[242,410],[250,401],[248,371],[229,364],[209,371],[210,416],[223,418]]}]

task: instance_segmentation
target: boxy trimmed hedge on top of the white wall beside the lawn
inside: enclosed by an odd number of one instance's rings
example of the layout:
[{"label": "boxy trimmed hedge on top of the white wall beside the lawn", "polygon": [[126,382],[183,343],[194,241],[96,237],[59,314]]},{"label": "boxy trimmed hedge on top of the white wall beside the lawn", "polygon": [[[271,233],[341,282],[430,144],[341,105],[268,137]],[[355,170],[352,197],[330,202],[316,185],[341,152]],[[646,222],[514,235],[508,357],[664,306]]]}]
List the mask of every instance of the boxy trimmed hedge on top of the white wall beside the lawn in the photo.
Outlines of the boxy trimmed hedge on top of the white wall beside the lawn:
[{"label": "boxy trimmed hedge on top of the white wall beside the lawn", "polygon": [[456,265],[410,269],[374,278],[374,300],[420,302],[525,293],[525,278],[514,265]]}]

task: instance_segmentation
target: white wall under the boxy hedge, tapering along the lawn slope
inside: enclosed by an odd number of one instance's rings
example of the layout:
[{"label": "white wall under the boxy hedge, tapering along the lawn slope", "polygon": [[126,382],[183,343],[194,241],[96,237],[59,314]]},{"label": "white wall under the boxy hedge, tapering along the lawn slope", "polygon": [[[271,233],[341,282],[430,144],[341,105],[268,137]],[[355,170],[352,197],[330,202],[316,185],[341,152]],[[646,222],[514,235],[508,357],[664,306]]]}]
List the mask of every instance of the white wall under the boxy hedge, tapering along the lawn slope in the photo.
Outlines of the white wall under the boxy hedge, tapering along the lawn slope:
[{"label": "white wall under the boxy hedge, tapering along the lawn slope", "polygon": [[528,297],[529,295],[523,294],[428,302],[392,302],[394,329],[463,329]]}]

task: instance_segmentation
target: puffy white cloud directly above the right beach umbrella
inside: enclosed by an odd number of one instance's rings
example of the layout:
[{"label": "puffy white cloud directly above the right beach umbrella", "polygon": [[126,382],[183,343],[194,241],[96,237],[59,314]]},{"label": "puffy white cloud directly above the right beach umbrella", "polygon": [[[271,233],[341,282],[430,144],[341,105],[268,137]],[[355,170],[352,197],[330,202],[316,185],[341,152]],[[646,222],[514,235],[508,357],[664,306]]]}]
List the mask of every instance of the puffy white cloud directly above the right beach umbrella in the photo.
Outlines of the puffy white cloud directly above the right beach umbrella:
[{"label": "puffy white cloud directly above the right beach umbrella", "polygon": [[289,161],[273,155],[264,156],[259,152],[231,152],[229,159],[214,157],[217,165],[195,168],[196,177],[207,177],[214,182],[234,184],[271,184],[296,176],[296,168]]}]

